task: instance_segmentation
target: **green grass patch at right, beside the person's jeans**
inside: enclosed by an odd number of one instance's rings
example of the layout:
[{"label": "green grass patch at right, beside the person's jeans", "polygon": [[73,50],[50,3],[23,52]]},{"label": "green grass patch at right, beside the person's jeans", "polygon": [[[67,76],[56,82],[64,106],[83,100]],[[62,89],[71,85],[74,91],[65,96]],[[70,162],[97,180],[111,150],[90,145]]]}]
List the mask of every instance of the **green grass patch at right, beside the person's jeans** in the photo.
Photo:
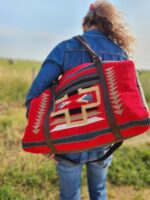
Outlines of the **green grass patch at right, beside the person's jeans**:
[{"label": "green grass patch at right, beside the person's jeans", "polygon": [[108,179],[114,185],[150,186],[149,144],[140,147],[123,147],[114,156]]}]

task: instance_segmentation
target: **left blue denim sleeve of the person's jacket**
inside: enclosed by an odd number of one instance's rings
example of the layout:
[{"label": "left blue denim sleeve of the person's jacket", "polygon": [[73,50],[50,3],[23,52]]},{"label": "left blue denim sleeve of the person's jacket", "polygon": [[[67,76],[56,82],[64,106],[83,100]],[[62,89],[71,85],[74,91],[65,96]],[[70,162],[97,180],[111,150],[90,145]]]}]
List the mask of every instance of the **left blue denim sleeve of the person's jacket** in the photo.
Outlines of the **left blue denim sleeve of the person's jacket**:
[{"label": "left blue denim sleeve of the person's jacket", "polygon": [[64,43],[57,45],[43,62],[25,100],[27,112],[32,98],[39,96],[63,73]]}]

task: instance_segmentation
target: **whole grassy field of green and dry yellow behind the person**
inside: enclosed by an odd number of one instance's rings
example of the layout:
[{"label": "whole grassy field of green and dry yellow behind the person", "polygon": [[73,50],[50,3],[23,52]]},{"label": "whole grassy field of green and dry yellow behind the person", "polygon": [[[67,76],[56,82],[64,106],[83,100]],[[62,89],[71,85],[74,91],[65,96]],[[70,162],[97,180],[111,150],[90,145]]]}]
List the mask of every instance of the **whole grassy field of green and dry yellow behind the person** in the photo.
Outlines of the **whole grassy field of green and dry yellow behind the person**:
[{"label": "whole grassy field of green and dry yellow behind the person", "polygon": [[[24,100],[40,65],[0,59],[0,200],[59,199],[54,161],[21,149],[26,124]],[[142,71],[140,79],[150,106],[150,72]],[[126,141],[115,153],[107,187],[108,200],[150,198],[150,133]],[[85,167],[81,190],[81,199],[88,200]]]}]

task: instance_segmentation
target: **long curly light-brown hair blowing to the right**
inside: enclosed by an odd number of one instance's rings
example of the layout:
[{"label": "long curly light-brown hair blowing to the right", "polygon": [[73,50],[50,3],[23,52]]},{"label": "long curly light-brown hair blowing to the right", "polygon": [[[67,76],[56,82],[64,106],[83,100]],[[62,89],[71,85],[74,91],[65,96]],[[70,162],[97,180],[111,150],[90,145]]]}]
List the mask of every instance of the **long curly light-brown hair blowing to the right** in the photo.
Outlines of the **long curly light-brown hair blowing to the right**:
[{"label": "long curly light-brown hair blowing to the right", "polygon": [[107,0],[97,0],[91,4],[83,19],[83,26],[96,25],[107,37],[118,44],[128,54],[132,53],[135,38],[125,23],[121,12]]}]

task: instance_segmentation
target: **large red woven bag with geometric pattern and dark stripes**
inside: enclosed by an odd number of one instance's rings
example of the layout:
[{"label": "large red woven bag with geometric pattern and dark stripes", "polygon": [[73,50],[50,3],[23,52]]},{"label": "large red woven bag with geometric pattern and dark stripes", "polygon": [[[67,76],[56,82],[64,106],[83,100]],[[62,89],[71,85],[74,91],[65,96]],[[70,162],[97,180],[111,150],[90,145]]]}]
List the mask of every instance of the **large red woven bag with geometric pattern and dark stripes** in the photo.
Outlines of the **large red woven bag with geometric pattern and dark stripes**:
[{"label": "large red woven bag with geometric pattern and dark stripes", "polygon": [[[83,43],[83,41],[81,41]],[[72,153],[118,143],[144,133],[150,117],[134,62],[93,63],[67,71],[57,85],[32,99],[23,149]]]}]

